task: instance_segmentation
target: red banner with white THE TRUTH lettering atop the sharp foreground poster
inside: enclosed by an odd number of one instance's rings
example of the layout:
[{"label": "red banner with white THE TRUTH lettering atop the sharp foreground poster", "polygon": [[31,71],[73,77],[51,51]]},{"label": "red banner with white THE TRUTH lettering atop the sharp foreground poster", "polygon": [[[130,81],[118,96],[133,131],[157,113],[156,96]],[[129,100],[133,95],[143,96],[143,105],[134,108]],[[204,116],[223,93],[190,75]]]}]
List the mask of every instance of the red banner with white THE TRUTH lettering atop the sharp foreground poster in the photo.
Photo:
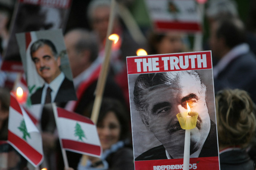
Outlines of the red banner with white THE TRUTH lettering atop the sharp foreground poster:
[{"label": "red banner with white THE TRUTH lettering atop the sharp foreground poster", "polygon": [[127,57],[128,74],[211,69],[211,51]]}]

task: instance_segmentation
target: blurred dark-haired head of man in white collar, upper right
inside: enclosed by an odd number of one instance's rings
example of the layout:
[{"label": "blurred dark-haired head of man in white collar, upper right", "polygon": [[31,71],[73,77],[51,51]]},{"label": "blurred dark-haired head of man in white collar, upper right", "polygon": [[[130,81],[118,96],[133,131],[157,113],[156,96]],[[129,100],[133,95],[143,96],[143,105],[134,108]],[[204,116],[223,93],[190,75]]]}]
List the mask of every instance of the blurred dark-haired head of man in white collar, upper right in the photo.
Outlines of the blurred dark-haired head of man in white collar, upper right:
[{"label": "blurred dark-haired head of man in white collar, upper right", "polygon": [[233,48],[238,44],[246,42],[246,32],[243,22],[238,18],[218,19],[216,37],[224,38],[228,48]]}]

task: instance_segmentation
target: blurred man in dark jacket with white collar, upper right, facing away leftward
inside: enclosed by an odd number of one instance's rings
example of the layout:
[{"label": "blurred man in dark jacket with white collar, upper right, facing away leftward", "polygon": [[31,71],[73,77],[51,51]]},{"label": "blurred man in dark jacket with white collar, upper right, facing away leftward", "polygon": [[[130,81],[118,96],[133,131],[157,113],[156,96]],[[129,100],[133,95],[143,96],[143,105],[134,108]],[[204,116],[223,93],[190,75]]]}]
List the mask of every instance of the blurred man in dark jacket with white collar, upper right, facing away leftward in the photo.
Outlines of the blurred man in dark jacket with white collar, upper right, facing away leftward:
[{"label": "blurred man in dark jacket with white collar, upper right, facing away leftward", "polygon": [[256,56],[246,43],[246,32],[238,18],[217,19],[211,25],[210,47],[219,62],[213,67],[215,92],[243,89],[256,102]]}]

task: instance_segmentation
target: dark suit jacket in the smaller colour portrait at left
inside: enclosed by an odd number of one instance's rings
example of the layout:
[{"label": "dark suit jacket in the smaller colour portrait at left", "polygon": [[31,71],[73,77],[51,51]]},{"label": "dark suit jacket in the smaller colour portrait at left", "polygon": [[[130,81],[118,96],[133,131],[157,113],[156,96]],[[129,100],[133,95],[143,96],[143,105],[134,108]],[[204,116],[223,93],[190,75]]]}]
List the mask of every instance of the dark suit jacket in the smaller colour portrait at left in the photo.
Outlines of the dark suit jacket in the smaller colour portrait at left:
[{"label": "dark suit jacket in the smaller colour portrait at left", "polygon": [[[37,89],[37,91],[31,95],[30,99],[32,104],[41,103],[43,88],[44,86]],[[76,92],[73,82],[65,77],[62,84],[60,85],[60,88],[58,89],[54,102],[67,102],[69,100],[76,100]]]}]

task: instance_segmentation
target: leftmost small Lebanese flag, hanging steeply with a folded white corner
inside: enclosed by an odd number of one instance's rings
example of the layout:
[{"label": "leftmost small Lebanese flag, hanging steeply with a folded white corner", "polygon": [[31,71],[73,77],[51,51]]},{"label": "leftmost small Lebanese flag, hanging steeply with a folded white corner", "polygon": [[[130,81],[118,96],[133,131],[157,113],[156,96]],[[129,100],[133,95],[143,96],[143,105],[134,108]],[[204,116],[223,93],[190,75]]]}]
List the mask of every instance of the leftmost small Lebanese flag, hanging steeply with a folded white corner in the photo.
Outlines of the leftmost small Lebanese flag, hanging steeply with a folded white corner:
[{"label": "leftmost small Lebanese flag, hanging steeply with a folded white corner", "polygon": [[12,93],[9,108],[8,142],[34,167],[38,167],[42,163],[44,154],[41,134]]}]

